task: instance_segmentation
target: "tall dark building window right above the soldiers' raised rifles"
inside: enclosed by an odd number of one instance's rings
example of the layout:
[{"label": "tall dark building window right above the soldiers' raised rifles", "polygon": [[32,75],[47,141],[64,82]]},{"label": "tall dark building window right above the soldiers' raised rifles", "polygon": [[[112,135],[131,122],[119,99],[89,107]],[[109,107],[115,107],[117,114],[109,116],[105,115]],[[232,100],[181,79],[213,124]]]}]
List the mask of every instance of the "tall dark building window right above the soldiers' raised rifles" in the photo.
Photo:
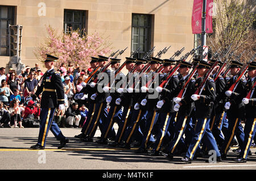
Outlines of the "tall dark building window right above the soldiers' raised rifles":
[{"label": "tall dark building window right above the soldiers' raised rifles", "polygon": [[138,50],[135,57],[142,58],[152,47],[152,15],[133,14],[131,30],[131,51]]}]

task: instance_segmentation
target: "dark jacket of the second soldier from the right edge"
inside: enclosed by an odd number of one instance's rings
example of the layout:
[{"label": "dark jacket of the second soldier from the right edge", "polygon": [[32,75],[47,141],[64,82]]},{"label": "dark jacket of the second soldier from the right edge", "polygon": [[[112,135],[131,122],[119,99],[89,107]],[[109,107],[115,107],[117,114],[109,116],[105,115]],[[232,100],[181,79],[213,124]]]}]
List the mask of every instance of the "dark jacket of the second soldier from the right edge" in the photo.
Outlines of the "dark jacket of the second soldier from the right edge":
[{"label": "dark jacket of the second soldier from the right edge", "polygon": [[[230,78],[228,82],[226,83],[225,91],[229,90],[230,86],[232,86],[234,83],[234,78]],[[235,87],[235,90],[232,92],[232,95],[230,97],[226,97],[226,102],[230,102],[231,106],[229,110],[227,110],[228,117],[240,117],[244,118],[245,116],[245,104],[242,103],[242,95],[245,91],[245,85],[246,85],[246,79],[245,77],[242,77],[240,81],[237,83],[237,86]]]}]

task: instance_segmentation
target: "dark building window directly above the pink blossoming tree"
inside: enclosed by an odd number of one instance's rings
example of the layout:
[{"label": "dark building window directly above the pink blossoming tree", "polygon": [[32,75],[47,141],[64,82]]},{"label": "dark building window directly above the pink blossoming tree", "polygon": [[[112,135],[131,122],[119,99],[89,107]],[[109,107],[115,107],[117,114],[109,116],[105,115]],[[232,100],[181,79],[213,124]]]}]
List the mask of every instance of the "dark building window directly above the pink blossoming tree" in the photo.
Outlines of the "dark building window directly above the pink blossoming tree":
[{"label": "dark building window directly above the pink blossoming tree", "polygon": [[88,11],[85,10],[64,10],[64,32],[72,30],[85,30],[87,32]]}]

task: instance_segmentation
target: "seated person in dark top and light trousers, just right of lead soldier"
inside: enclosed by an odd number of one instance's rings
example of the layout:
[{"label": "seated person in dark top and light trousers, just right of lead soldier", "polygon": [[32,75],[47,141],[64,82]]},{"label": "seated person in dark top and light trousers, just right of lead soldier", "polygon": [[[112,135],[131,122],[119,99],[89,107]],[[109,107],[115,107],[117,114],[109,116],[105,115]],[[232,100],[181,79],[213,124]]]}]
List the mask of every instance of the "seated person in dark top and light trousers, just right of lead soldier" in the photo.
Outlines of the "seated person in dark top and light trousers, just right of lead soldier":
[{"label": "seated person in dark top and light trousers, just right of lead soldier", "polygon": [[75,102],[71,107],[65,112],[65,123],[69,128],[79,127],[79,122],[81,119],[80,111],[78,109],[78,104]]}]

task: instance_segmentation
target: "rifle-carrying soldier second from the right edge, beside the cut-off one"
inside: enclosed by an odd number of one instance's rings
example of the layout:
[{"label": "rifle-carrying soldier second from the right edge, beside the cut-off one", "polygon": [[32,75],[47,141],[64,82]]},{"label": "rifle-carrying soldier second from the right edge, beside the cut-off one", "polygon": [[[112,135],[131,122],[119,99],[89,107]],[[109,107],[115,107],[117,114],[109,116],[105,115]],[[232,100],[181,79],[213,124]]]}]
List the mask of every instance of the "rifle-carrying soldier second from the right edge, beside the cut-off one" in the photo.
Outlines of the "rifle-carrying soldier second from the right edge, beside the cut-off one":
[{"label": "rifle-carrying soldier second from the right edge, beside the cut-off one", "polygon": [[227,101],[225,103],[225,109],[228,117],[228,133],[225,136],[224,144],[221,148],[221,157],[226,158],[226,153],[229,150],[229,146],[233,141],[234,136],[237,137],[238,143],[241,146],[244,140],[243,128],[241,125],[241,120],[245,117],[245,105],[242,103],[241,96],[242,92],[245,90],[246,78],[243,76],[237,86],[233,91],[229,91],[230,86],[236,82],[237,73],[242,68],[240,62],[231,61],[230,73],[233,75],[226,83],[225,95],[227,96]]}]

